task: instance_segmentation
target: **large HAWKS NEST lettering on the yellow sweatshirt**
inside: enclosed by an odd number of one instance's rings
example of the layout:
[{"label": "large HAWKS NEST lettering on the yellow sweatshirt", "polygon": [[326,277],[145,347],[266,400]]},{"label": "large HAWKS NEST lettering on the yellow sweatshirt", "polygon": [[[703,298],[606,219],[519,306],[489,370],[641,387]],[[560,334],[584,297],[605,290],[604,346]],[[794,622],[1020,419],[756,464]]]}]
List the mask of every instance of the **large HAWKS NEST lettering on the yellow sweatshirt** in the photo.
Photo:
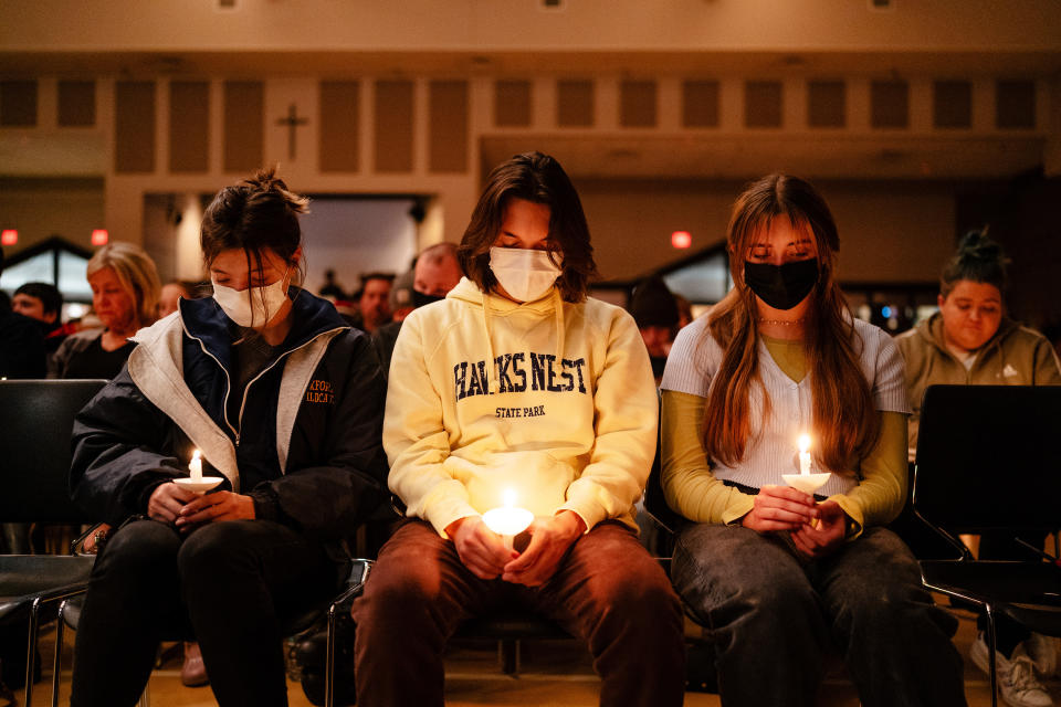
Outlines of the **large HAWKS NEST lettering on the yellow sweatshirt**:
[{"label": "large HAWKS NEST lettering on the yellow sweatshirt", "polygon": [[458,400],[472,395],[547,391],[586,393],[586,359],[563,359],[556,365],[553,354],[502,354],[495,356],[496,391],[486,381],[486,361],[461,361],[453,367],[453,393]]}]

